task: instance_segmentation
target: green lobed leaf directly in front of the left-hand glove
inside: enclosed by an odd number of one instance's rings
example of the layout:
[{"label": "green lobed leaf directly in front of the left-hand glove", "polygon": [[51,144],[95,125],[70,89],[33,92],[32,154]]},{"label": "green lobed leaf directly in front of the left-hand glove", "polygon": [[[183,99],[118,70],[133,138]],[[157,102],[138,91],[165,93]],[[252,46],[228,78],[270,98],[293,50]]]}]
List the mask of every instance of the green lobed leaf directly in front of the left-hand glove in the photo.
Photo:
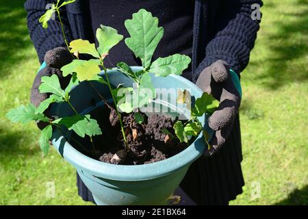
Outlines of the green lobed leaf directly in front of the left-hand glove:
[{"label": "green lobed leaf directly in front of the left-hand glove", "polygon": [[65,93],[60,86],[57,75],[51,75],[51,77],[44,76],[41,80],[42,83],[38,88],[41,93],[52,93],[65,99]]}]

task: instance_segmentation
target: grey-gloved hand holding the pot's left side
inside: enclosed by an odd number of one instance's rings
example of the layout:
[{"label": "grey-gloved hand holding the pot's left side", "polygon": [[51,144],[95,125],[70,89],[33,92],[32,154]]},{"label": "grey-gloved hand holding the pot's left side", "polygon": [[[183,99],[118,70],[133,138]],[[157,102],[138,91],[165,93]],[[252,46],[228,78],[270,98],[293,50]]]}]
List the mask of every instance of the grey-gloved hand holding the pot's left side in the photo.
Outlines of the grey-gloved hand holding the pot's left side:
[{"label": "grey-gloved hand holding the pot's left side", "polygon": [[[48,93],[40,93],[38,87],[42,83],[41,77],[47,76],[50,77],[51,75],[57,75],[59,77],[61,88],[64,89],[68,86],[70,81],[70,75],[67,77],[63,77],[60,68],[62,66],[69,64],[72,62],[73,56],[70,52],[64,47],[57,47],[55,49],[51,49],[47,51],[44,56],[44,63],[42,64],[40,70],[38,71],[36,77],[34,78],[34,82],[31,88],[31,103],[34,104],[36,107],[40,105],[42,101],[49,98],[50,94]],[[49,116],[48,110],[44,112],[46,116]],[[39,129],[44,129],[47,123],[38,123]]]}]

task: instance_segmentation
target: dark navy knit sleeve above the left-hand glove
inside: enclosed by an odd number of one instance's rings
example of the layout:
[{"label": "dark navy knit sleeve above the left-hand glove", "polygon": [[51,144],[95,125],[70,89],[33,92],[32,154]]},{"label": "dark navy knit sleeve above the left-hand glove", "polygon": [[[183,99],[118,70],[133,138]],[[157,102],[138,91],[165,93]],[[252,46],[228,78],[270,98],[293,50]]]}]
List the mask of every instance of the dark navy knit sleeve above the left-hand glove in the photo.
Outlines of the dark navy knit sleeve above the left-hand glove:
[{"label": "dark navy knit sleeve above the left-hand glove", "polygon": [[[47,29],[44,29],[42,24],[38,22],[40,16],[46,12],[47,4],[55,2],[56,0],[27,0],[24,5],[25,10],[27,10],[29,35],[38,53],[40,63],[44,62],[44,55],[50,49],[65,47],[61,25],[56,14],[55,20],[48,22]],[[60,9],[60,14],[62,22],[64,23],[64,32],[69,42],[72,39],[72,34],[64,7]]]}]

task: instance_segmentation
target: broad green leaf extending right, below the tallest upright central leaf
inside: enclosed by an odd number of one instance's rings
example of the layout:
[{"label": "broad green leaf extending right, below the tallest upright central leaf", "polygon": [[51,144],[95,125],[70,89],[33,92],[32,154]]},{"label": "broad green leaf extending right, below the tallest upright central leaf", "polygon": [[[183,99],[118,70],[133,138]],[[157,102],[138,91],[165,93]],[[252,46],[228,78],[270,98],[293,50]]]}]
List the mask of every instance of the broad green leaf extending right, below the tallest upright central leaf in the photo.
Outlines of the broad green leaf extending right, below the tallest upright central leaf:
[{"label": "broad green leaf extending right, below the tallest upright central leaf", "polygon": [[156,77],[166,77],[168,75],[181,75],[183,70],[190,64],[188,55],[169,55],[168,57],[159,57],[150,67],[149,72],[154,73]]}]

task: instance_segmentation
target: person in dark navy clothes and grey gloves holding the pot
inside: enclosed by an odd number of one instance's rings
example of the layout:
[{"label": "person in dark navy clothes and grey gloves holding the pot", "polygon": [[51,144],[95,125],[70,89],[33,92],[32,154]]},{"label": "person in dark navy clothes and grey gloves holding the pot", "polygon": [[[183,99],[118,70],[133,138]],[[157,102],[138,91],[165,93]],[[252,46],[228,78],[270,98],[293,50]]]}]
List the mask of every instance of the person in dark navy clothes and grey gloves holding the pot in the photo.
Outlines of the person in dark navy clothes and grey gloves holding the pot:
[{"label": "person in dark navy clothes and grey gloves holding the pot", "polygon": [[[57,74],[65,63],[67,51],[59,21],[49,22],[43,29],[39,18],[47,4],[54,1],[27,0],[29,35],[40,63],[49,60],[34,79],[31,103],[38,105],[47,98],[38,92],[40,77]],[[242,144],[238,110],[242,91],[240,73],[248,64],[251,49],[259,30],[259,19],[253,19],[253,5],[259,0],[76,0],[61,11],[64,32],[68,41],[77,38],[95,42],[95,31],[100,24],[118,29],[125,38],[129,34],[124,21],[144,8],[159,18],[164,37],[153,55],[166,57],[173,53],[189,55],[192,64],[183,77],[193,81],[203,91],[220,101],[218,110],[209,118],[213,129],[211,149],[196,160],[181,182],[180,190],[198,205],[227,205],[242,193]],[[122,40],[107,57],[107,67],[123,61],[130,66],[140,65]],[[97,42],[96,42],[97,43]],[[235,78],[236,76],[236,78]],[[62,80],[62,83],[65,80]],[[93,201],[92,194],[77,175],[79,195]]]}]

